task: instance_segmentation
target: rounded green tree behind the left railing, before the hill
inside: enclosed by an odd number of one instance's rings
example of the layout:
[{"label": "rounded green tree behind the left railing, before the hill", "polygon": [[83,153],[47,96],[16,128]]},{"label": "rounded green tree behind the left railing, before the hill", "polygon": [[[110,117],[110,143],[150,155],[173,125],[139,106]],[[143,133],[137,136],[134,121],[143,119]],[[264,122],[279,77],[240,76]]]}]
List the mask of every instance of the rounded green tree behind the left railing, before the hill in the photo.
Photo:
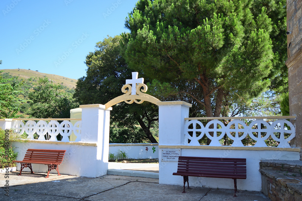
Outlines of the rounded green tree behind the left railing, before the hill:
[{"label": "rounded green tree behind the left railing, before the hill", "polygon": [[71,94],[63,92],[61,85],[54,84],[47,77],[36,82],[34,91],[28,94],[31,99],[29,115],[35,118],[70,118],[70,109],[79,107]]}]

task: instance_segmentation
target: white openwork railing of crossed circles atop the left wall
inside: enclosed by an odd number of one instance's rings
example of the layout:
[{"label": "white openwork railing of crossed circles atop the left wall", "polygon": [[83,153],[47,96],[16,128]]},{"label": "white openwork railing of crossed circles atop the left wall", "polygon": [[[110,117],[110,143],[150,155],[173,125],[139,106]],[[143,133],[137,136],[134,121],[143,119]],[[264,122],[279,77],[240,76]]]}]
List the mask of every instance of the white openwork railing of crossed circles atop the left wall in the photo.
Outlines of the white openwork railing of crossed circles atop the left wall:
[{"label": "white openwork railing of crossed circles atop the left wall", "polygon": [[[59,141],[57,135],[62,136],[62,142],[69,142],[69,136],[74,133],[76,142],[81,140],[81,119],[12,119],[12,129],[19,135],[24,132],[27,139],[34,140],[34,134],[39,136],[37,140]],[[25,124],[23,121],[26,121]],[[36,122],[37,121],[37,122]],[[58,121],[62,121],[59,123]],[[75,123],[72,124],[74,121]],[[48,123],[47,123],[48,122]]]}]

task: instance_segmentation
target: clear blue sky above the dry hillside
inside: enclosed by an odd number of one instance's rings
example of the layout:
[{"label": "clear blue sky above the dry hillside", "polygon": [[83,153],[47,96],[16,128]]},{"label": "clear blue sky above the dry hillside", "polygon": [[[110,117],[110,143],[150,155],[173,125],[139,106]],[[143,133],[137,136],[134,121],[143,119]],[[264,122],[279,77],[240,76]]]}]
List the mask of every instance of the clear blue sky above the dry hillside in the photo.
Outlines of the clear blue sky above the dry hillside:
[{"label": "clear blue sky above the dry hillside", "polygon": [[1,0],[0,69],[31,69],[72,79],[107,35],[127,32],[137,0]]}]

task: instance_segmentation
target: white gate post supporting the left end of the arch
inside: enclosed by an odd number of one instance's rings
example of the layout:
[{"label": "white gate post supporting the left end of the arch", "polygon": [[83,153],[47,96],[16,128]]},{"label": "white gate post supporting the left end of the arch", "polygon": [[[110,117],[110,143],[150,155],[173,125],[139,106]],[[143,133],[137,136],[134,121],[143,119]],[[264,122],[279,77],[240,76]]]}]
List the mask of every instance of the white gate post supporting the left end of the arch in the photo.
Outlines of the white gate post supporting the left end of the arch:
[{"label": "white gate post supporting the left end of the arch", "polygon": [[80,105],[82,108],[81,142],[96,143],[79,159],[79,173],[84,177],[107,174],[109,155],[110,110],[105,105]]}]

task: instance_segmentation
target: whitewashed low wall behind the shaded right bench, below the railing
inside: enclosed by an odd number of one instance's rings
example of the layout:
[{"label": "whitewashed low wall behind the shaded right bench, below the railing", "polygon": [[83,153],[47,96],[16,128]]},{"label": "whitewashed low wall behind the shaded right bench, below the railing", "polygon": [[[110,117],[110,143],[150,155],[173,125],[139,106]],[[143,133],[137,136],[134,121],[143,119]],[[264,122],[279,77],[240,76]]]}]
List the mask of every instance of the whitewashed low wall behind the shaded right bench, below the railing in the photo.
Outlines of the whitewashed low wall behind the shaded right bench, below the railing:
[{"label": "whitewashed low wall behind the shaded right bench, below the railing", "polygon": [[[169,147],[169,148],[164,148]],[[209,146],[159,146],[159,153],[180,150],[182,156],[245,158],[246,179],[237,179],[238,190],[261,191],[260,160],[299,160],[300,149],[276,147],[209,147]],[[190,147],[190,148],[189,148]],[[177,171],[176,161],[162,161],[159,154],[159,184],[183,185],[183,177],[172,175]],[[189,177],[195,187],[234,189],[233,179]]]}]

